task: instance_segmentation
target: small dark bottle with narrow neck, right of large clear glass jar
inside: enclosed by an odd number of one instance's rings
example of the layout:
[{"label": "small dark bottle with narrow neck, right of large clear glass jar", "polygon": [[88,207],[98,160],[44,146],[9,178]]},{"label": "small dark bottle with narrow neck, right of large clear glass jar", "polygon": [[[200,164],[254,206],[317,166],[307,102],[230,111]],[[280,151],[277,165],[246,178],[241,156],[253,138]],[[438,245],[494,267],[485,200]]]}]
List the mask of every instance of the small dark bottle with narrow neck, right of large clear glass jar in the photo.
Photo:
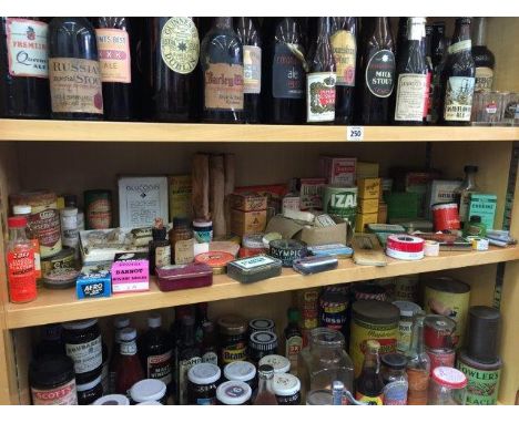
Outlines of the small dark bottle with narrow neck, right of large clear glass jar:
[{"label": "small dark bottle with narrow neck, right of large clear glass jar", "polygon": [[356,399],[369,405],[383,405],[384,381],[380,374],[379,350],[378,341],[367,341],[363,371],[356,383]]}]

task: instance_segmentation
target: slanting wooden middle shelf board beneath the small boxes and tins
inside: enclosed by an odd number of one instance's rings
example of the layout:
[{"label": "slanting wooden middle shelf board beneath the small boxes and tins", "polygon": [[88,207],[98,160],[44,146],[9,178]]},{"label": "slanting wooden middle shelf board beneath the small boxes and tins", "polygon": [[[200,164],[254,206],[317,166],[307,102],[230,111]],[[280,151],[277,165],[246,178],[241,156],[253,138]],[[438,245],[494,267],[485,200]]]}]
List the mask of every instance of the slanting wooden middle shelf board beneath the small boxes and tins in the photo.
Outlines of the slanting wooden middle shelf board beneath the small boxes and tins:
[{"label": "slanting wooden middle shelf board beneath the small boxes and tins", "polygon": [[352,260],[340,261],[339,268],[313,276],[302,276],[292,269],[283,269],[279,277],[244,285],[225,275],[215,276],[213,286],[161,292],[154,281],[147,292],[122,293],[110,298],[78,300],[74,289],[42,289],[35,301],[24,305],[6,305],[7,327],[26,328],[45,323],[113,316],[133,311],[153,310],[202,301],[260,296],[326,285],[395,277],[480,266],[519,259],[519,247],[490,248],[488,251],[441,252],[439,257],[427,257],[419,261],[401,261],[388,258],[386,267],[357,266]]}]

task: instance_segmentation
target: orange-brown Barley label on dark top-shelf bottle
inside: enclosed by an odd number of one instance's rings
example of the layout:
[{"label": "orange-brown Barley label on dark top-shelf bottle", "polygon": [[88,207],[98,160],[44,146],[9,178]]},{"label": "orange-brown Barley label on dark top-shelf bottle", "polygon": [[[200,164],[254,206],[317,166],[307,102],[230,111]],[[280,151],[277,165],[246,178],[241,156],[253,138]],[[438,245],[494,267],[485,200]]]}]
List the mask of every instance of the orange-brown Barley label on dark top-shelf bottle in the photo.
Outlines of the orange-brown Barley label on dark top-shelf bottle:
[{"label": "orange-brown Barley label on dark top-shelf bottle", "polygon": [[205,109],[243,110],[243,66],[210,63],[205,71]]}]

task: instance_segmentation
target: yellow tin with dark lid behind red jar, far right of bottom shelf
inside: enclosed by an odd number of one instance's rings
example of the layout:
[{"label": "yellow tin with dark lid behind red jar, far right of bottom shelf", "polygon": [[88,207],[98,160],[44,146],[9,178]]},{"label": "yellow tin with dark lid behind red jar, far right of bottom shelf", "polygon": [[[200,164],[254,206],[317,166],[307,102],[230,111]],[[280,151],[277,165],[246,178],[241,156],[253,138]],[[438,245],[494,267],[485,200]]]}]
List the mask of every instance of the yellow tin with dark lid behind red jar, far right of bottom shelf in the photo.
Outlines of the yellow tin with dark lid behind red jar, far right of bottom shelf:
[{"label": "yellow tin with dark lid behind red jar, far right of bottom shelf", "polygon": [[464,344],[469,301],[470,286],[465,282],[448,277],[425,282],[424,309],[427,313],[446,316],[456,322],[452,333],[452,347],[456,349]]}]

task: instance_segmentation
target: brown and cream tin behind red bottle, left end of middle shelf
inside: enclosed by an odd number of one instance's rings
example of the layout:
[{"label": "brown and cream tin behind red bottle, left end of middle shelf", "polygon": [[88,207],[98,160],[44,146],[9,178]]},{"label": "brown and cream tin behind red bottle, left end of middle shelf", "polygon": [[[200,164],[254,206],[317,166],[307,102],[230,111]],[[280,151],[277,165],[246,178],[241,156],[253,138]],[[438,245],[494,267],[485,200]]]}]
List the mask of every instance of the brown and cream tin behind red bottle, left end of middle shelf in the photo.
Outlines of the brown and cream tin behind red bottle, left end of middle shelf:
[{"label": "brown and cream tin behind red bottle, left end of middle shelf", "polygon": [[48,258],[62,249],[58,197],[49,190],[11,195],[11,206],[31,206],[28,224],[40,241],[40,257]]}]

